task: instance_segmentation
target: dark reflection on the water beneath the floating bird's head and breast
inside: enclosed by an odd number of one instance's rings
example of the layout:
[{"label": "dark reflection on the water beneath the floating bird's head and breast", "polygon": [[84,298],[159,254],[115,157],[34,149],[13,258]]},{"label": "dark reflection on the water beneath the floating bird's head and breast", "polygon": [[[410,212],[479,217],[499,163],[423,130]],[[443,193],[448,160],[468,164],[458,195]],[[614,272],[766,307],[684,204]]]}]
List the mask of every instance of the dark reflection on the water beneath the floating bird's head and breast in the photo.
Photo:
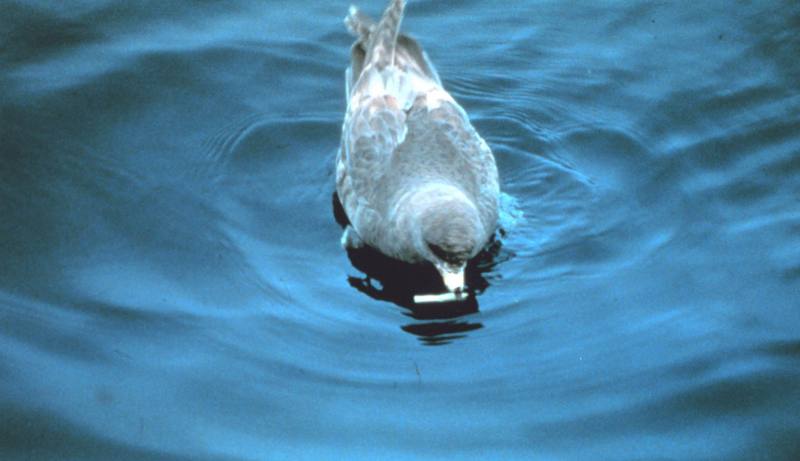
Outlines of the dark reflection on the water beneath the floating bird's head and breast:
[{"label": "dark reflection on the water beneath the floating bird's head and breast", "polygon": [[[348,224],[347,216],[335,193],[333,212],[342,227]],[[494,266],[500,246],[500,241],[494,239],[467,265],[465,281],[470,296],[463,301],[415,303],[414,295],[447,291],[436,269],[430,264],[404,263],[369,247],[347,251],[353,267],[364,274],[363,277],[350,276],[347,281],[353,288],[373,299],[403,307],[406,310],[405,315],[415,320],[402,326],[403,331],[418,336],[427,345],[447,344],[483,327],[481,323],[470,322],[466,317],[478,312],[476,295],[489,287],[483,274]]]}]

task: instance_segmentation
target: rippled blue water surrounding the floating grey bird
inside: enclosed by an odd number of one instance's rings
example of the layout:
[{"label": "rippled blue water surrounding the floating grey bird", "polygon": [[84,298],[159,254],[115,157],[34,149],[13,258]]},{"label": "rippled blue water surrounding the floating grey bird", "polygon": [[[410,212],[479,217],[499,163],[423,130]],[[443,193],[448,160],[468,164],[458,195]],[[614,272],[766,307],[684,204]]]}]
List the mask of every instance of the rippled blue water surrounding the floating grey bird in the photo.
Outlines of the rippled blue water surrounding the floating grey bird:
[{"label": "rippled blue water surrounding the floating grey bird", "polygon": [[0,3],[0,459],[800,459],[800,3],[412,0],[507,194],[442,309],[339,247],[347,7]]}]

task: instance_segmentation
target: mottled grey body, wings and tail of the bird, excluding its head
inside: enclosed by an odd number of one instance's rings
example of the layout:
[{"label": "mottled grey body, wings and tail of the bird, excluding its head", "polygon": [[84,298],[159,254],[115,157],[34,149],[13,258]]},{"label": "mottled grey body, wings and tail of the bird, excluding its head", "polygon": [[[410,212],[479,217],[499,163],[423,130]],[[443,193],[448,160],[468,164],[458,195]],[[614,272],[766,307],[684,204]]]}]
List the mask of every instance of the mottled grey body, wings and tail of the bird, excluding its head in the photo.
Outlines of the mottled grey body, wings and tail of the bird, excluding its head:
[{"label": "mottled grey body, wings and tail of the bird, excluding its head", "polygon": [[491,150],[442,88],[422,48],[386,29],[399,27],[402,4],[394,0],[377,24],[352,9],[346,19],[358,39],[347,75],[337,191],[366,243],[412,260],[405,254],[411,237],[398,216],[409,197],[458,191],[475,204],[488,239],[499,189]]}]

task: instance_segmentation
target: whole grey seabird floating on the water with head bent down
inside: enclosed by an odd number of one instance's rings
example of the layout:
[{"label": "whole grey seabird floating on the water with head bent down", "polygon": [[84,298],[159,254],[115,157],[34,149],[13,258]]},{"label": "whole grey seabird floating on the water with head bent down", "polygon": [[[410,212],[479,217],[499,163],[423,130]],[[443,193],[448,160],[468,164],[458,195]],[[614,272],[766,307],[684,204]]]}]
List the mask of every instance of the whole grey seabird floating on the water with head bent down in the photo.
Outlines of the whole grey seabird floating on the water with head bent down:
[{"label": "whole grey seabird floating on the water with head bent down", "polygon": [[464,269],[497,227],[497,165],[417,42],[400,34],[404,0],[375,23],[354,6],[356,36],[336,191],[350,224],[345,248],[371,246],[432,263],[461,295]]}]

